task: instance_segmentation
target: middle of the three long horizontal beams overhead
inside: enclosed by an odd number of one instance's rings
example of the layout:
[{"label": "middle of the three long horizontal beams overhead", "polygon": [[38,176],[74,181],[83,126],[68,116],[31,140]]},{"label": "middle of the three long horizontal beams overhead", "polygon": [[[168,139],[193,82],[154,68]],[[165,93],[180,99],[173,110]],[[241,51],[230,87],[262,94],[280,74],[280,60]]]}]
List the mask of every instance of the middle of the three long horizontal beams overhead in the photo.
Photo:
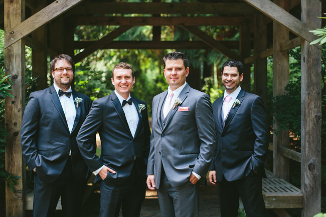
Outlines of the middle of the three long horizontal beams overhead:
[{"label": "middle of the three long horizontal beams overhead", "polygon": [[75,26],[240,26],[245,17],[73,17]]}]

